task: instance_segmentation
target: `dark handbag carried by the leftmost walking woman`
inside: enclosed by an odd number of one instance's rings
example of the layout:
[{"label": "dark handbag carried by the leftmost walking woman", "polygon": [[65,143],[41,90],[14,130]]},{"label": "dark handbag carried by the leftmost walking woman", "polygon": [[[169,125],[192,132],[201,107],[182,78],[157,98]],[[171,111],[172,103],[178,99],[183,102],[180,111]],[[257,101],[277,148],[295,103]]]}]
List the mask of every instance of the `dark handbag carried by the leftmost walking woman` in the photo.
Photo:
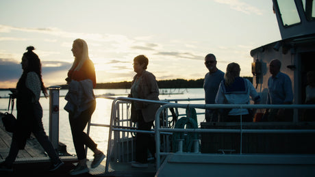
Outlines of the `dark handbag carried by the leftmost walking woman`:
[{"label": "dark handbag carried by the leftmost walking woman", "polygon": [[[10,105],[11,105],[11,113],[9,113]],[[3,122],[3,125],[5,127],[5,131],[8,131],[10,133],[14,132],[15,124],[16,124],[16,118],[12,114],[13,108],[14,108],[14,98],[12,98],[12,94],[10,94],[8,111],[5,112],[3,117],[2,117],[2,122]]]}]

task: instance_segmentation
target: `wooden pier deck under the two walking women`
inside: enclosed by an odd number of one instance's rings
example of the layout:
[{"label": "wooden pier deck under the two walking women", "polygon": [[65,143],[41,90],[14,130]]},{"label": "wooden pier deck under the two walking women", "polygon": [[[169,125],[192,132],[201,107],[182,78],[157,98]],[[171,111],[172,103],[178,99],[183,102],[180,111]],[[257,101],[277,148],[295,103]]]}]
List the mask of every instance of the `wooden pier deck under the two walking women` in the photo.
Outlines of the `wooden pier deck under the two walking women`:
[{"label": "wooden pier deck under the two walking women", "polygon": [[[0,119],[3,113],[0,112]],[[10,150],[12,133],[5,131],[2,121],[0,121],[0,163],[5,160]],[[57,169],[56,172],[49,172],[51,165],[50,159],[45,150],[38,143],[37,139],[31,135],[27,139],[27,144],[24,150],[18,152],[16,161],[14,162],[14,172],[0,172],[0,176],[25,176],[25,175],[40,175],[40,176],[70,176],[68,172],[73,169],[77,163],[77,156],[60,156],[64,165]],[[88,166],[92,161],[88,161]],[[95,169],[90,169],[89,173],[79,176],[95,176],[105,172],[105,161]]]}]

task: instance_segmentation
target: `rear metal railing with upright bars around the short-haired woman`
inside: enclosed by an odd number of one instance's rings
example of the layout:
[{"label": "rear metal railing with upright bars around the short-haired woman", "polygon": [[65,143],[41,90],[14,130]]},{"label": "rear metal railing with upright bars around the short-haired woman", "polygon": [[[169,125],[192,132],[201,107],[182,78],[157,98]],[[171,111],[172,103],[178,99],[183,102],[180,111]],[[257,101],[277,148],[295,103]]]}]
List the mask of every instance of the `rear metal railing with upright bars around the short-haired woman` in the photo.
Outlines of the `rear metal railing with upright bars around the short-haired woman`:
[{"label": "rear metal railing with upright bars around the short-haired woman", "polygon": [[[135,133],[151,133],[154,135],[154,130],[151,131],[138,131],[136,124],[131,122],[130,113],[131,113],[131,102],[139,101],[146,103],[155,103],[159,105],[165,105],[169,103],[182,103],[182,102],[194,102],[204,100],[204,98],[187,98],[187,99],[168,99],[168,100],[144,100],[138,98],[127,98],[127,97],[112,97],[112,96],[97,96],[97,98],[110,99],[112,101],[112,109],[110,115],[110,124],[98,124],[94,122],[88,122],[87,133],[90,133],[90,126],[101,126],[109,128],[108,133],[108,157],[106,159],[105,172],[108,172],[109,161],[116,162],[130,162],[134,161],[135,157]],[[177,108],[174,110],[177,117],[186,115],[184,112],[179,112]],[[198,115],[203,114],[198,112]],[[168,118],[173,118],[168,111],[163,113],[163,119],[167,125]],[[164,135],[164,145],[162,146],[164,150],[170,151],[170,142],[167,136],[171,136],[172,133],[161,133]],[[153,157],[152,157],[153,159]]]}]

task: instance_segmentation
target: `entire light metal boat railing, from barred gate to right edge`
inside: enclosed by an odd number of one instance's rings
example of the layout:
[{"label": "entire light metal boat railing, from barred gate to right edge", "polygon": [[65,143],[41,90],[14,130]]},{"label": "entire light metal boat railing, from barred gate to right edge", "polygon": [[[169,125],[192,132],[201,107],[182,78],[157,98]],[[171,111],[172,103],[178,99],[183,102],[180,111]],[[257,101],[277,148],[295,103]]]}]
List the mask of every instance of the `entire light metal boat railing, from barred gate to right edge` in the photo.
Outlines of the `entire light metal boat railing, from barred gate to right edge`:
[{"label": "entire light metal boat railing, from barred gate to right edge", "polygon": [[[135,142],[134,133],[151,133],[155,135],[155,145],[156,145],[156,169],[161,165],[161,159],[163,156],[174,153],[172,149],[172,135],[174,133],[239,133],[240,134],[240,152],[242,154],[242,135],[245,133],[315,133],[314,129],[244,129],[242,128],[242,121],[240,121],[239,129],[213,129],[213,128],[174,128],[168,124],[168,119],[172,118],[169,113],[171,109],[177,111],[177,118],[180,116],[185,116],[183,110],[196,109],[197,114],[204,113],[205,109],[315,109],[315,105],[220,105],[220,104],[191,104],[192,101],[203,100],[202,98],[197,99],[179,99],[179,100],[143,100],[138,98],[126,98],[118,97],[113,98],[110,96],[103,96],[102,98],[112,99],[112,110],[110,116],[110,124],[95,124],[89,122],[88,133],[90,131],[90,126],[105,126],[109,128],[108,135],[108,156],[106,159],[105,172],[108,172],[110,161],[116,162],[130,162],[134,161],[135,152]],[[138,131],[136,124],[130,120],[131,112],[131,102],[141,101],[146,103],[155,103],[162,105],[155,114],[155,127],[152,131]],[[188,104],[180,104],[179,102],[187,102]],[[181,111],[180,111],[181,110]],[[179,113],[178,113],[179,112]],[[242,120],[242,115],[240,115],[240,120]],[[183,152],[183,139],[177,139],[177,151],[176,153]],[[200,153],[199,151],[199,136],[193,139],[192,146],[194,151],[192,153]],[[225,150],[222,150],[224,153]],[[154,159],[153,156],[151,159]]]}]

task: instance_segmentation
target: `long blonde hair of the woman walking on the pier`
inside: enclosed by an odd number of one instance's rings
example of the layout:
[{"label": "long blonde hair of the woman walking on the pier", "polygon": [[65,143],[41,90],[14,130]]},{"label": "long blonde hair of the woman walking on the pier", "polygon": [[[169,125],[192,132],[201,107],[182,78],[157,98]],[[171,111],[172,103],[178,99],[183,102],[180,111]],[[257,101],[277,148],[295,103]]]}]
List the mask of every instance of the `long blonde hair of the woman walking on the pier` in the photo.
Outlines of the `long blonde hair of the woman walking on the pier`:
[{"label": "long blonde hair of the woman walking on the pier", "polygon": [[73,44],[79,46],[82,49],[82,53],[80,57],[75,57],[75,62],[73,62],[70,70],[80,70],[84,62],[90,59],[90,57],[88,57],[88,44],[86,44],[86,41],[82,39],[74,40]]}]

